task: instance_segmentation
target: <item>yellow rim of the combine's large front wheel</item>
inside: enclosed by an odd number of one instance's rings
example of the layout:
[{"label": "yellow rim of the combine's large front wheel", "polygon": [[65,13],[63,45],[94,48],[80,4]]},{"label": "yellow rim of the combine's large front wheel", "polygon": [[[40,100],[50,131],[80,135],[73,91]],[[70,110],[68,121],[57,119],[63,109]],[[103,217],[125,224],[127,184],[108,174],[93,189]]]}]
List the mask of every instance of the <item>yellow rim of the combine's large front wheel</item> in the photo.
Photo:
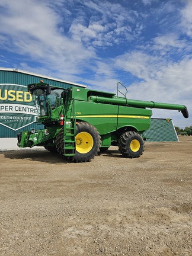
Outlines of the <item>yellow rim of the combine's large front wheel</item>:
[{"label": "yellow rim of the combine's large front wheel", "polygon": [[88,153],[91,151],[94,140],[92,139],[92,136],[87,132],[81,132],[78,133],[75,137],[76,142],[76,151],[79,153]]}]

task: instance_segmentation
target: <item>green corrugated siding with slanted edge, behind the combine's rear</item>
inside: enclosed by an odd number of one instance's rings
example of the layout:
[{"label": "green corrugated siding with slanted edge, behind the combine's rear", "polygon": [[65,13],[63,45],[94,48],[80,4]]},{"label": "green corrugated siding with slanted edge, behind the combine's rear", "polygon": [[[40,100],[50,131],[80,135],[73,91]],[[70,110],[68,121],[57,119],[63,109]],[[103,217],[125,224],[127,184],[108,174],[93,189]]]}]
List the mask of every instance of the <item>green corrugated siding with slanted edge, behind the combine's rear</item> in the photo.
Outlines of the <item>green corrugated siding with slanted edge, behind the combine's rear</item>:
[{"label": "green corrugated siding with slanted edge, behind the combine's rear", "polygon": [[178,136],[170,119],[151,119],[151,126],[143,133],[147,142],[177,142]]}]

